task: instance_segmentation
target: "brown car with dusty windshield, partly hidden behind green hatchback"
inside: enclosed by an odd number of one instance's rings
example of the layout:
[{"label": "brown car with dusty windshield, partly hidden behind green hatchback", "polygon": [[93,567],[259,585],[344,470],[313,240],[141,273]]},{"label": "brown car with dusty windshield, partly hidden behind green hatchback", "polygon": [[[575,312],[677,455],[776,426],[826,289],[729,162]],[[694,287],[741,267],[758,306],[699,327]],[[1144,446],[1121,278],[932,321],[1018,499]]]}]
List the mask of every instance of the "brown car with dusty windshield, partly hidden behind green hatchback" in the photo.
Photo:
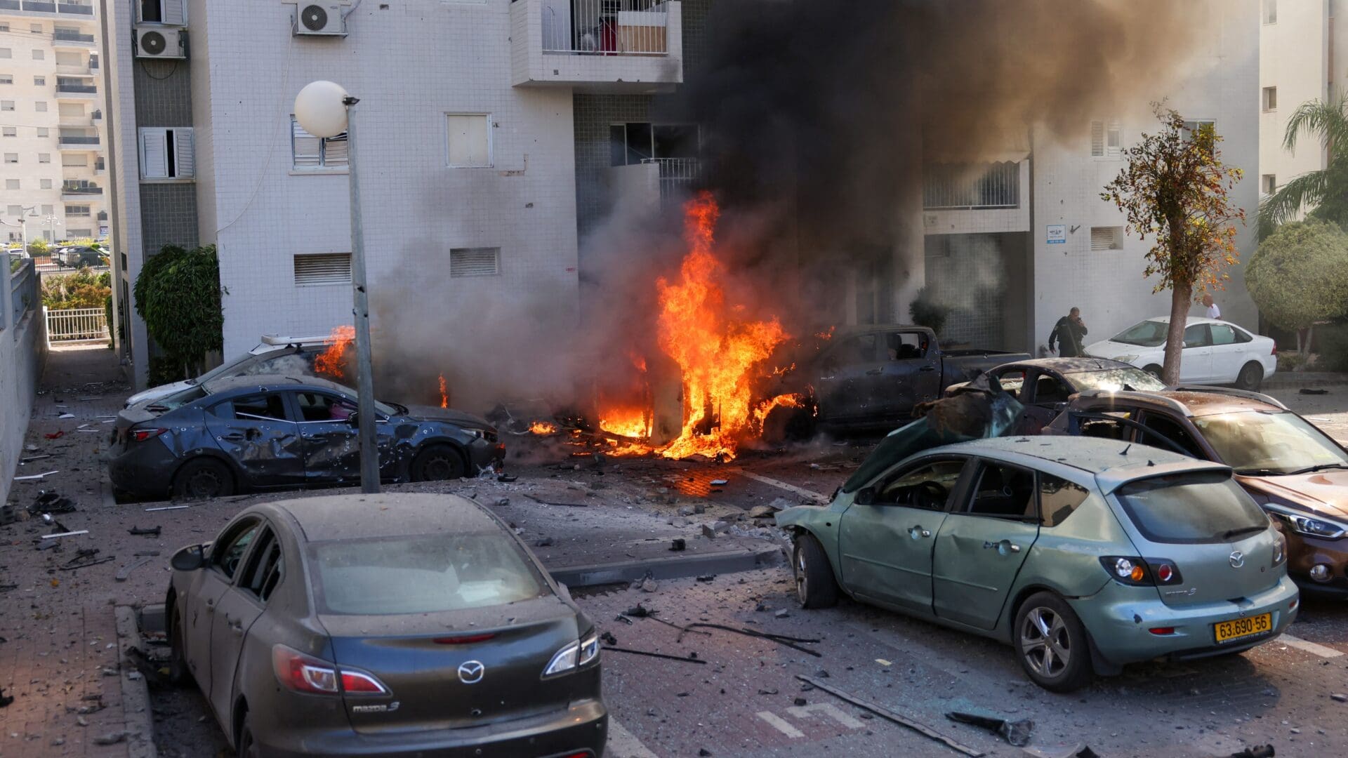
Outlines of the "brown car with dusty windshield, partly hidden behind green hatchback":
[{"label": "brown car with dusty windshield, partly hidden behind green hatchback", "polygon": [[1235,469],[1287,538],[1287,573],[1306,593],[1348,597],[1348,450],[1258,392],[1181,386],[1082,392],[1045,430],[1184,452]]}]

